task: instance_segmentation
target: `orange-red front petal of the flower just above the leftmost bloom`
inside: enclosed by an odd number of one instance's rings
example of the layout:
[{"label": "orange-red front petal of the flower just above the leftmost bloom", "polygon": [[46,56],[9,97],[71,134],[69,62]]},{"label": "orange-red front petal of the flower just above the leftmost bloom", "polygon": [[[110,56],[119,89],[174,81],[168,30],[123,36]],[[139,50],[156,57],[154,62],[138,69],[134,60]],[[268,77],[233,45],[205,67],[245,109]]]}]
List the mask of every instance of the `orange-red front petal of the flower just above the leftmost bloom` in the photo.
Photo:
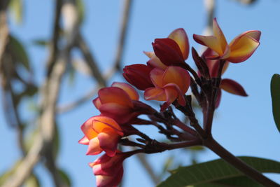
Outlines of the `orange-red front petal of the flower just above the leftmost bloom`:
[{"label": "orange-red front petal of the flower just above the leftmost bloom", "polygon": [[102,104],[118,103],[123,106],[133,107],[130,96],[125,90],[117,87],[102,88],[98,91],[99,99]]}]

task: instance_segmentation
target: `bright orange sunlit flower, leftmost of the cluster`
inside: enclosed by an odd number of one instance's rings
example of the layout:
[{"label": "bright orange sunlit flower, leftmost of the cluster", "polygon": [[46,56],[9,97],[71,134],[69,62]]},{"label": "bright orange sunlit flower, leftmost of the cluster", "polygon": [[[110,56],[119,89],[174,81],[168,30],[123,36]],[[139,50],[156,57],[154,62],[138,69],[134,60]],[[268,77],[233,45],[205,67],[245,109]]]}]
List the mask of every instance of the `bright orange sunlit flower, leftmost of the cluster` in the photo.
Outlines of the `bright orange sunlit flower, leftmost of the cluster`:
[{"label": "bright orange sunlit flower, leftmost of the cluster", "polygon": [[85,137],[80,144],[88,145],[87,155],[97,155],[102,151],[109,156],[116,155],[118,141],[123,137],[123,130],[112,118],[94,116],[81,126]]}]

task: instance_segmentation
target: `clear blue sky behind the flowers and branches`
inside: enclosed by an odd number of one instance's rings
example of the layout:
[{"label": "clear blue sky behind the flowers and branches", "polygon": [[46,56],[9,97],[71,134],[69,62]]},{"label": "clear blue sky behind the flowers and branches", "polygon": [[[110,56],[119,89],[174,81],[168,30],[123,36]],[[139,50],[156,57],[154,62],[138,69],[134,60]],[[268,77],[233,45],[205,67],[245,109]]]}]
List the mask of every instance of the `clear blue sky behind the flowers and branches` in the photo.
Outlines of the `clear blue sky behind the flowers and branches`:
[{"label": "clear blue sky behind the flowers and branches", "polygon": [[[10,31],[26,46],[32,64],[36,83],[43,81],[43,64],[48,50],[35,46],[35,39],[50,39],[54,13],[54,2],[49,0],[26,0],[25,16],[22,25],[15,25],[10,20]],[[102,71],[113,62],[118,41],[120,15],[123,1],[87,1],[85,0],[86,18],[82,32],[90,44],[94,56]],[[218,142],[234,155],[251,155],[269,158],[280,162],[280,134],[276,130],[272,117],[269,84],[274,73],[280,73],[280,1],[259,0],[253,6],[244,6],[236,1],[216,1],[216,18],[225,37],[230,42],[235,36],[251,29],[262,32],[260,46],[246,62],[230,64],[224,78],[232,78],[244,86],[248,97],[238,97],[223,92],[221,105],[214,118],[213,135]],[[152,50],[151,43],[156,38],[167,37],[170,32],[183,27],[189,37],[190,46],[200,50],[193,41],[193,34],[202,34],[206,25],[206,11],[202,0],[136,0],[132,4],[132,17],[127,32],[127,45],[123,65],[146,63],[143,50]],[[79,54],[77,54],[79,57]],[[189,57],[187,62],[194,67]],[[113,81],[123,81],[116,76]],[[64,86],[59,103],[66,104],[92,90],[94,83],[88,76],[76,74],[73,85],[69,78],[64,78]],[[92,98],[94,99],[94,98]],[[159,109],[159,106],[157,106]],[[16,134],[6,125],[0,109],[0,172],[11,167],[20,158]],[[91,101],[58,118],[61,132],[61,150],[58,165],[68,172],[74,187],[95,186],[92,170],[87,166],[97,156],[85,155],[86,146],[78,144],[83,137],[80,125],[91,116],[98,115]],[[22,116],[28,116],[22,108]],[[198,114],[198,116],[200,116]],[[155,130],[148,128],[148,134],[162,138]],[[148,155],[148,161],[160,172],[162,162],[170,154],[176,154],[178,160],[189,164],[190,155],[182,151],[169,151]],[[218,158],[211,151],[199,155],[204,162]],[[43,187],[52,186],[48,172],[41,165],[36,167]],[[139,164],[136,157],[125,161],[124,186],[153,186],[151,179]],[[269,177],[280,182],[280,175]]]}]

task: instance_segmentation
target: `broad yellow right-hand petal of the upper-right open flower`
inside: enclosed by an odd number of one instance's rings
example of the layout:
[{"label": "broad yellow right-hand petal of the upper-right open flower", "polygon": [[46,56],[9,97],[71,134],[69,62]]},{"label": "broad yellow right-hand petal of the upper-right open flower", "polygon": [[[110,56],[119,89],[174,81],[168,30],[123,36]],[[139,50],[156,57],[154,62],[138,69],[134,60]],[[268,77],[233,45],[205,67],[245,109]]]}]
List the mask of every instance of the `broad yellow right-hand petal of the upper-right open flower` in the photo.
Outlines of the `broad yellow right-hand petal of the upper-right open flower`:
[{"label": "broad yellow right-hand petal of the upper-right open flower", "polygon": [[253,55],[259,45],[260,42],[248,36],[248,34],[237,36],[230,43],[230,57],[228,57],[228,61],[233,63],[244,62]]}]

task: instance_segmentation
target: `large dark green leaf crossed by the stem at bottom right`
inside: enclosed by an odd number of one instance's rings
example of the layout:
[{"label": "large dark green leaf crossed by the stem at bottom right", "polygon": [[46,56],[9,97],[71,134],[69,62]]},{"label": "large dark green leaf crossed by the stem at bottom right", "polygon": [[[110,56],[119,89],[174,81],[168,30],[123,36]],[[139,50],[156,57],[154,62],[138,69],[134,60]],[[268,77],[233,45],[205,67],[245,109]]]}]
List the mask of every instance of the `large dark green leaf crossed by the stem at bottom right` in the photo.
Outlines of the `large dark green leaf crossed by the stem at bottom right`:
[{"label": "large dark green leaf crossed by the stem at bottom right", "polygon": [[[260,172],[280,173],[280,162],[254,157],[239,158]],[[239,170],[235,169],[235,167],[232,167],[222,159],[212,160],[188,167],[180,167],[173,172],[174,173],[169,176],[167,180],[160,183],[158,187],[197,186],[205,183],[225,182],[223,181],[225,179],[229,180],[244,176]]]}]

